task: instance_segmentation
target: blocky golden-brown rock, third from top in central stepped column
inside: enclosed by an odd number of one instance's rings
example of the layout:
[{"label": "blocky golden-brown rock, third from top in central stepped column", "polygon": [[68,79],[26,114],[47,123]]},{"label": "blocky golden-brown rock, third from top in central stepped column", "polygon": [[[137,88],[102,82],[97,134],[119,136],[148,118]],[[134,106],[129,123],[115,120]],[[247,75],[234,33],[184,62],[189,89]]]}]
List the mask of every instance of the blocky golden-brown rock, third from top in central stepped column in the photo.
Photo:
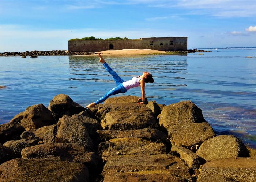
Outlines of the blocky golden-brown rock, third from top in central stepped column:
[{"label": "blocky golden-brown rock, third from top in central stepped column", "polygon": [[112,111],[101,120],[101,126],[105,130],[155,128],[156,120],[151,111]]}]

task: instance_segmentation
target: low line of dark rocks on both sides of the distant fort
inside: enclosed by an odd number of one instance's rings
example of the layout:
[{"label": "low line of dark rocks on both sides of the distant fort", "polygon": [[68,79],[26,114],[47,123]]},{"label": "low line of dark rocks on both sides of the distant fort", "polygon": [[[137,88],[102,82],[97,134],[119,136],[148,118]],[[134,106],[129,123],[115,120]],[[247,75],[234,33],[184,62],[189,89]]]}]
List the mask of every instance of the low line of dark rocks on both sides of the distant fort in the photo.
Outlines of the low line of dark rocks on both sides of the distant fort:
[{"label": "low line of dark rocks on both sides of the distant fort", "polygon": [[[211,52],[204,50],[187,50],[187,51],[166,51],[172,53],[194,53],[194,52]],[[96,52],[68,52],[63,50],[53,51],[25,51],[25,52],[0,52],[0,56],[74,56],[74,55],[92,55]]]}]

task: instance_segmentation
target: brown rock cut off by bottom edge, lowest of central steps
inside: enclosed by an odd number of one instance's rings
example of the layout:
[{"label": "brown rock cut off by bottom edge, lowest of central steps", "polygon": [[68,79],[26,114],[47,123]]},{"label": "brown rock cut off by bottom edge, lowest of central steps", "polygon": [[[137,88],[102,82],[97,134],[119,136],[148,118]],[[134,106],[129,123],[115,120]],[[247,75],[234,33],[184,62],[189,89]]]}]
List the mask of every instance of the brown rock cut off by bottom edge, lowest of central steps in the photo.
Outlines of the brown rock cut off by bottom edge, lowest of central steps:
[{"label": "brown rock cut off by bottom edge, lowest of central steps", "polygon": [[125,172],[125,173],[107,173],[104,177],[104,182],[156,182],[156,181],[165,181],[165,182],[187,182],[186,179],[176,177],[175,175],[170,174],[168,171],[140,171],[137,173]]}]

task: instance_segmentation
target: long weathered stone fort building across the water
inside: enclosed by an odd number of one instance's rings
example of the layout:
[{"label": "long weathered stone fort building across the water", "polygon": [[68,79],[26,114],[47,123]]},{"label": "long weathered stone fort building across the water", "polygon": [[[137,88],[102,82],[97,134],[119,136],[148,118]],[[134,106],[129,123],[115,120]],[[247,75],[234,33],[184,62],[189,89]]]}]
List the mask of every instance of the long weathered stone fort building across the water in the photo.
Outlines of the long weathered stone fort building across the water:
[{"label": "long weathered stone fort building across the water", "polygon": [[69,52],[98,52],[109,49],[154,49],[175,51],[188,49],[188,37],[151,37],[134,40],[69,40]]}]

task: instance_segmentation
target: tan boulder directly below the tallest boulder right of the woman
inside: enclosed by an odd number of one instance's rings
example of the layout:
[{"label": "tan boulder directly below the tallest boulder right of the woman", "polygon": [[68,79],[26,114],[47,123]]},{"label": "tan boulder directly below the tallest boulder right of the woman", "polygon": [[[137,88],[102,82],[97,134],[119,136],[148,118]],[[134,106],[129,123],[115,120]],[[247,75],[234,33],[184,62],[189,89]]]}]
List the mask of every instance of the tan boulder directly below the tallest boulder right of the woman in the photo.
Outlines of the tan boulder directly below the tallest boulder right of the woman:
[{"label": "tan boulder directly below the tallest boulder right of the woman", "polygon": [[209,138],[215,136],[214,131],[208,123],[187,123],[173,127],[171,142],[172,145],[195,148]]}]

